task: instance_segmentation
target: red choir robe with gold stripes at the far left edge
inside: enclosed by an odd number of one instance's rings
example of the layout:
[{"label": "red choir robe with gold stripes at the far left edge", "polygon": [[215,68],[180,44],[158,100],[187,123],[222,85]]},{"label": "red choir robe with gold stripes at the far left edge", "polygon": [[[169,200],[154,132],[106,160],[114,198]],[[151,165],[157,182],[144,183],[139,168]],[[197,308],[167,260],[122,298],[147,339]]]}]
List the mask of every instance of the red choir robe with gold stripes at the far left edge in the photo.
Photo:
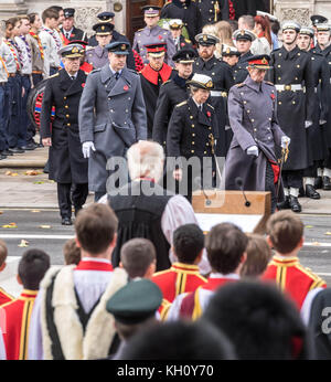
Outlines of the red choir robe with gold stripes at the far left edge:
[{"label": "red choir robe with gold stripes at the far left edge", "polygon": [[29,328],[38,290],[23,289],[20,297],[1,306],[1,330],[8,360],[26,360]]}]

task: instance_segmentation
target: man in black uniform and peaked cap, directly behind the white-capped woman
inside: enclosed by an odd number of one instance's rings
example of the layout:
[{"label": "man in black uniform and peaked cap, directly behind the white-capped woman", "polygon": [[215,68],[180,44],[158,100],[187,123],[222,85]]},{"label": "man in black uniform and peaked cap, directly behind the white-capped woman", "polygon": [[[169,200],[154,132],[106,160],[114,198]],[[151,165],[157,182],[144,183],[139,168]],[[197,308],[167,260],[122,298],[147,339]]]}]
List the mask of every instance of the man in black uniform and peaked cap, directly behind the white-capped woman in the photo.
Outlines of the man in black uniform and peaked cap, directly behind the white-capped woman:
[{"label": "man in black uniform and peaked cap, directly behind the white-capped woman", "polygon": [[[196,53],[193,49],[183,49],[174,54],[173,62],[177,74],[162,84],[156,107],[152,139],[166,150],[167,131],[170,117],[175,105],[190,96],[188,79],[192,77]],[[167,152],[167,150],[166,150]]]}]

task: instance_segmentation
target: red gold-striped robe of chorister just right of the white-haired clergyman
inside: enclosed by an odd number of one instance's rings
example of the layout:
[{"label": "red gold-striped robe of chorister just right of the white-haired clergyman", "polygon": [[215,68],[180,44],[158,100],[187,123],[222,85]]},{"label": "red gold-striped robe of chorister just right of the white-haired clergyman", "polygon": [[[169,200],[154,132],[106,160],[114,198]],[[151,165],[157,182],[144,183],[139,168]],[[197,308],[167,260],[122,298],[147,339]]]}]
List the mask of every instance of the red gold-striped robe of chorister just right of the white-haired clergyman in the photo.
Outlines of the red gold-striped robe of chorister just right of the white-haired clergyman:
[{"label": "red gold-striped robe of chorister just right of the white-haired clergyman", "polygon": [[173,263],[171,268],[157,272],[152,282],[159,286],[163,298],[172,303],[178,295],[194,291],[207,280],[200,275],[197,265]]}]

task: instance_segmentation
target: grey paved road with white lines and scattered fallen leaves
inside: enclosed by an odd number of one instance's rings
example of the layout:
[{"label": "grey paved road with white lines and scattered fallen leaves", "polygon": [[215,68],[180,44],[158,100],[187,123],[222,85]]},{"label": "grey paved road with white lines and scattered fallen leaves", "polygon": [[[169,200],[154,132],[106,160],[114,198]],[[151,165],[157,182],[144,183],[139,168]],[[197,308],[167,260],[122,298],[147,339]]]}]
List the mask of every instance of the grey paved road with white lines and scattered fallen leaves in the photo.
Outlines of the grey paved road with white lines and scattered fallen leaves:
[{"label": "grey paved road with white lines and scattered fallen leaves", "polygon": [[[46,157],[46,149],[36,149],[0,161],[0,238],[8,244],[12,258],[19,259],[25,250],[40,247],[50,254],[53,265],[61,265],[63,245],[74,230],[60,224],[56,183],[42,171]],[[306,226],[300,259],[331,286],[331,192],[321,194],[320,201],[300,199]],[[87,200],[92,202],[93,194]]]}]

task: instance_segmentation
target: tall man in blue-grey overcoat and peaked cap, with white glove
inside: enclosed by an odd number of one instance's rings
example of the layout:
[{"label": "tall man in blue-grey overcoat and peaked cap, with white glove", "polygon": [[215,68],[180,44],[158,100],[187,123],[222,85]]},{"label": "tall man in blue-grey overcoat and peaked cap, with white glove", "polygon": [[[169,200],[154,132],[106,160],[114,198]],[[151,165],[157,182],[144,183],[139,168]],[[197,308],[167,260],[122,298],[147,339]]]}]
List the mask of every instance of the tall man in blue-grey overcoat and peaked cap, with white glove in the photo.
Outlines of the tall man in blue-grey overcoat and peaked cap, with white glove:
[{"label": "tall man in blue-grey overcoat and peaked cap, with white glove", "polygon": [[79,135],[88,160],[88,187],[95,200],[106,193],[111,157],[124,157],[147,139],[147,117],[139,75],[126,67],[127,42],[106,46],[109,65],[89,73],[79,104]]}]

